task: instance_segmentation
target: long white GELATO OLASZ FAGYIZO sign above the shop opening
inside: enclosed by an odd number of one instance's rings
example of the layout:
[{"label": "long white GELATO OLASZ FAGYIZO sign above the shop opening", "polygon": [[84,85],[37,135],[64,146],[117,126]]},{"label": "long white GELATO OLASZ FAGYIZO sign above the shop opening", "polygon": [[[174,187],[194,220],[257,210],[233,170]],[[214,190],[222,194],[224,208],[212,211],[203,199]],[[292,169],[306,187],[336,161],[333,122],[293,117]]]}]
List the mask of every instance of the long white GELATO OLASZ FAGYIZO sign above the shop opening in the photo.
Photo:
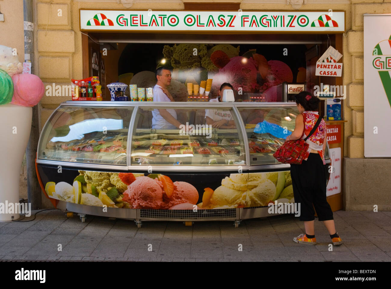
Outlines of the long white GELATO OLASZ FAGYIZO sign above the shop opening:
[{"label": "long white GELATO OLASZ FAGYIZO sign above the shop opening", "polygon": [[344,32],[345,12],[80,10],[86,31]]}]

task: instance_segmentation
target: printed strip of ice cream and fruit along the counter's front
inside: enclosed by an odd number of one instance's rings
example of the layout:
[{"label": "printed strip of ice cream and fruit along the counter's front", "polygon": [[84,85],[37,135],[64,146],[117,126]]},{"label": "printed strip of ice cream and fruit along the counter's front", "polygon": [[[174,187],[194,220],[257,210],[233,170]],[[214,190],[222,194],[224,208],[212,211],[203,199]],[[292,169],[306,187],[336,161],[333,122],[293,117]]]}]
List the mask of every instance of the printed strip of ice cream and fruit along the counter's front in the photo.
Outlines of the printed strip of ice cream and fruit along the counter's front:
[{"label": "printed strip of ice cream and fruit along the counter's front", "polygon": [[208,184],[215,185],[209,187],[199,181],[180,181],[176,175],[78,172],[73,182],[47,182],[48,197],[89,206],[154,210],[228,209],[267,206],[275,200],[294,202],[290,172],[232,173],[217,184],[215,176],[210,176]]}]

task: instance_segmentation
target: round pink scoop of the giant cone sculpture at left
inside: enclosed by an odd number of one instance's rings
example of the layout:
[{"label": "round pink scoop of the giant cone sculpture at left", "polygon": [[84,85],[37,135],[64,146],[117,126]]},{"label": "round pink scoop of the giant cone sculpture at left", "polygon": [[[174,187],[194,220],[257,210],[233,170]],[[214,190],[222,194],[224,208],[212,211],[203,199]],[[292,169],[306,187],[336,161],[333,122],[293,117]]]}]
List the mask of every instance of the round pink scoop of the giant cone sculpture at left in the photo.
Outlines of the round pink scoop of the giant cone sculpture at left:
[{"label": "round pink scoop of the giant cone sculpture at left", "polygon": [[14,74],[12,81],[14,83],[12,104],[34,107],[45,94],[42,80],[34,74]]}]

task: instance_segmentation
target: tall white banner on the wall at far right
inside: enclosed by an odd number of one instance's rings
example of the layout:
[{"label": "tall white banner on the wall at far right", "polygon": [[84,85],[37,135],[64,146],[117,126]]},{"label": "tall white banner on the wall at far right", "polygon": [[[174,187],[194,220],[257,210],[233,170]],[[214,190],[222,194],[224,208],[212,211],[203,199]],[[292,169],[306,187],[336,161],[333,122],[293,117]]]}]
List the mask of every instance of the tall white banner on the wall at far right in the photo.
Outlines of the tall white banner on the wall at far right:
[{"label": "tall white banner on the wall at far right", "polygon": [[365,157],[391,157],[390,27],[391,14],[364,14]]}]

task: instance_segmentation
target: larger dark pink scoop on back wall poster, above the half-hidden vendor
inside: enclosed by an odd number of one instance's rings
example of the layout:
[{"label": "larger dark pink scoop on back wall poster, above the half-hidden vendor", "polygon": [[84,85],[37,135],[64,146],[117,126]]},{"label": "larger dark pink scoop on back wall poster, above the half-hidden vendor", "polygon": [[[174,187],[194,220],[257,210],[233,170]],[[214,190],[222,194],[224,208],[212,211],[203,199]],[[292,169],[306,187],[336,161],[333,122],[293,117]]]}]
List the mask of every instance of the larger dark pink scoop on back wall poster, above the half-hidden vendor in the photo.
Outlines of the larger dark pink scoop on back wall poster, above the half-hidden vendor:
[{"label": "larger dark pink scoop on back wall poster, above the half-hidden vendor", "polygon": [[242,87],[243,92],[253,92],[258,87],[256,82],[257,72],[258,65],[252,57],[232,57],[230,62],[213,77],[214,89],[217,86],[219,88],[222,83],[228,82],[233,86],[234,92],[237,92],[239,87]]}]

